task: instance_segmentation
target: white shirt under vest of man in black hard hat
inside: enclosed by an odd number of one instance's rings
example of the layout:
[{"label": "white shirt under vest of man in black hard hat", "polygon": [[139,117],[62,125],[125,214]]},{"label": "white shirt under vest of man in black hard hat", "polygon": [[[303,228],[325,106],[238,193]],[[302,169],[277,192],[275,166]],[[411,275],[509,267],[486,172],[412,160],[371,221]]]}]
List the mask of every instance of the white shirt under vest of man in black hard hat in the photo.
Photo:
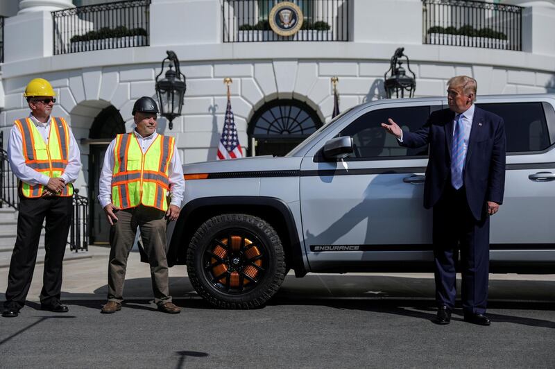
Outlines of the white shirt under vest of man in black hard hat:
[{"label": "white shirt under vest of man in black hard hat", "polygon": [[[137,141],[139,141],[139,146],[141,146],[143,154],[146,153],[148,148],[158,136],[157,132],[154,132],[148,137],[142,137],[139,135],[137,130],[133,130],[133,133],[135,134],[135,137],[137,137]],[[110,142],[110,146],[108,146],[108,149],[106,150],[106,154],[104,155],[104,164],[100,173],[99,201],[103,208],[112,203],[112,170],[114,168],[115,145],[116,140],[113,139],[112,142]],[[176,144],[173,144],[173,155],[169,162],[168,177],[171,192],[170,205],[181,207],[181,201],[183,200],[183,194],[185,192],[185,179],[183,178],[183,168]]]}]

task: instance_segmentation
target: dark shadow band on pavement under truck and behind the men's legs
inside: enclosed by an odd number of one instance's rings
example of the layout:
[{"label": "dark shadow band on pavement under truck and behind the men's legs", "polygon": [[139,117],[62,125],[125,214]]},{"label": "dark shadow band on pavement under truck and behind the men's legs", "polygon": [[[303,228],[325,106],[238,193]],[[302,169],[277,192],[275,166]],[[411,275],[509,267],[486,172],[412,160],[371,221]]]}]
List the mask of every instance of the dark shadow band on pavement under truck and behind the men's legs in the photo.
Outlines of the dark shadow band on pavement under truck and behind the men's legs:
[{"label": "dark shadow band on pavement under truck and behind the men's legs", "polygon": [[[545,280],[490,280],[488,316],[493,322],[555,328],[549,320],[526,318],[508,314],[493,314],[493,310],[555,311],[554,282]],[[457,289],[460,291],[460,281]],[[93,293],[62,291],[62,302],[100,311],[106,301],[108,286]],[[173,302],[184,309],[214,309],[194,291],[188,277],[170,277]],[[124,308],[156,311],[150,277],[126,280]],[[0,300],[4,295],[0,294]],[[39,309],[40,304],[28,302],[28,307]],[[288,275],[268,307],[324,306],[334,309],[375,311],[432,320],[436,316],[434,280],[432,278],[389,275],[307,275],[295,278]],[[260,309],[264,309],[261,307]],[[462,320],[460,296],[452,320]],[[50,318],[50,317],[48,317]],[[38,324],[38,323],[35,323]]]}]

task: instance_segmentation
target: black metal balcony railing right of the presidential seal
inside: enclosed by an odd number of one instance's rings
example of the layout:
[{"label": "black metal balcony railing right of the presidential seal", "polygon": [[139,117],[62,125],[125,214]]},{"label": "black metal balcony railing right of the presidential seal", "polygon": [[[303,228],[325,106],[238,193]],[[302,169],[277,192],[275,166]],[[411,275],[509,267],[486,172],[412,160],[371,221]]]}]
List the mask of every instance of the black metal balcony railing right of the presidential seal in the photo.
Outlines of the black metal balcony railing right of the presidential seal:
[{"label": "black metal balcony railing right of the presidential seal", "polygon": [[522,7],[422,0],[423,43],[522,50]]}]

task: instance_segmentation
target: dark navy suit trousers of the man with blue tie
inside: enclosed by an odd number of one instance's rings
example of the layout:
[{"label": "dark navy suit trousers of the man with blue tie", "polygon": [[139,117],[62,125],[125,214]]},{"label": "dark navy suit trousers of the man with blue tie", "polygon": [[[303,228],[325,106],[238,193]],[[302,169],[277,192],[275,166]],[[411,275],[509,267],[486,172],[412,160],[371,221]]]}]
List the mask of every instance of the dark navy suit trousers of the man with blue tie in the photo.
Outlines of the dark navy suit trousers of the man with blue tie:
[{"label": "dark navy suit trousers of the man with blue tie", "polygon": [[476,220],[466,200],[464,187],[450,185],[434,205],[434,259],[436,302],[453,309],[456,298],[456,264],[461,252],[463,310],[484,314],[488,301],[490,220]]}]

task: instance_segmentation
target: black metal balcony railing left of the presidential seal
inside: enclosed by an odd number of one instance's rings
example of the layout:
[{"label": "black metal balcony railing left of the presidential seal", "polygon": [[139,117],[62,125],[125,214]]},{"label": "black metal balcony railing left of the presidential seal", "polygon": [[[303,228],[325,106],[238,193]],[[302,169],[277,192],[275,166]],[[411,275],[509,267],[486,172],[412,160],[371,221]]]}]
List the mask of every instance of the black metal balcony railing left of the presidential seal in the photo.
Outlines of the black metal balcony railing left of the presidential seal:
[{"label": "black metal balcony railing left of the presidential seal", "polygon": [[52,12],[54,55],[148,46],[150,5],[132,0]]}]

